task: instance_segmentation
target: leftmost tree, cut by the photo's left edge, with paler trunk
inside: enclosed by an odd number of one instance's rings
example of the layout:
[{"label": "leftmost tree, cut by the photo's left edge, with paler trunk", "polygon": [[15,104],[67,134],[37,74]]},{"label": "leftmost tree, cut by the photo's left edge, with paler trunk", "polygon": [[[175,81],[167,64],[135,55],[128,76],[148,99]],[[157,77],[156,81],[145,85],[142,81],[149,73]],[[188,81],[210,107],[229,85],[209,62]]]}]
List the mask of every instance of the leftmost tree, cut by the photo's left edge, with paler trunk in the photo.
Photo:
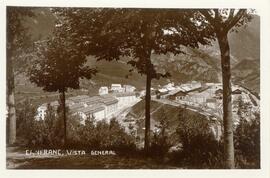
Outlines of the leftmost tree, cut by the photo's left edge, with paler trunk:
[{"label": "leftmost tree, cut by the photo's left edge, with paler trunk", "polygon": [[16,112],[15,112],[15,85],[14,66],[21,60],[18,54],[29,46],[29,35],[23,25],[26,17],[33,17],[30,8],[7,7],[7,142],[16,141]]}]

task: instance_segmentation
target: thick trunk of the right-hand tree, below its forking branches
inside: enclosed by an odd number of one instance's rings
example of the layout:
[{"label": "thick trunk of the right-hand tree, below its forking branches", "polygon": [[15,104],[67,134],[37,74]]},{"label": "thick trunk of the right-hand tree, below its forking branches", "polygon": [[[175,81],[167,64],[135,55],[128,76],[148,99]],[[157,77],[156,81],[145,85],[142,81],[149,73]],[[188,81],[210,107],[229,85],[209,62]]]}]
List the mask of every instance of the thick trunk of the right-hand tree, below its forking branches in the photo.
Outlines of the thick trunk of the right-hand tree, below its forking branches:
[{"label": "thick trunk of the right-hand tree, below its forking branches", "polygon": [[228,169],[233,169],[234,145],[233,145],[230,47],[227,33],[221,33],[218,34],[217,36],[220,47],[221,66],[222,66],[225,167]]}]

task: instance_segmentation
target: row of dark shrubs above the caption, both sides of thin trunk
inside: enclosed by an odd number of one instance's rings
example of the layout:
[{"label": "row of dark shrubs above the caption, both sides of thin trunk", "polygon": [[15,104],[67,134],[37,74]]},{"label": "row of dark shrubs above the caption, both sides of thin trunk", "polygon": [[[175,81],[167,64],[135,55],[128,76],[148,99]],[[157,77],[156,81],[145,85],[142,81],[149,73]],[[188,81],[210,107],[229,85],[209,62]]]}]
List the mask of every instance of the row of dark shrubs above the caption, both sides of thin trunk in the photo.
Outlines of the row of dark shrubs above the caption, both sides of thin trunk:
[{"label": "row of dark shrubs above the caption, both sides of thin trunk", "polygon": [[[26,146],[63,147],[63,119],[51,106],[47,106],[44,120],[35,120],[35,108],[29,101],[18,110],[18,135]],[[87,118],[85,124],[76,115],[67,113],[67,144],[69,148],[113,149],[131,152],[136,149],[135,138],[127,134],[115,118],[109,123]]]}]

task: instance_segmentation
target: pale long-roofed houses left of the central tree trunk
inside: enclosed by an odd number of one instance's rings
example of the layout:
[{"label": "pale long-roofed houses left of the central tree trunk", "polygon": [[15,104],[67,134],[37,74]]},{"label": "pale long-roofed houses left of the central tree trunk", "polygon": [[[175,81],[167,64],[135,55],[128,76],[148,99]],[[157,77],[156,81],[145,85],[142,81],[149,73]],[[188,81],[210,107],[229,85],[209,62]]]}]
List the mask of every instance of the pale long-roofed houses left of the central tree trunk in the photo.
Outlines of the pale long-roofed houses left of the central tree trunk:
[{"label": "pale long-roofed houses left of the central tree trunk", "polygon": [[[73,115],[78,115],[81,123],[88,117],[95,118],[96,121],[106,119],[110,120],[112,117],[124,107],[128,107],[138,102],[135,87],[131,85],[112,84],[109,90],[108,87],[102,86],[99,89],[99,95],[88,96],[78,95],[69,97],[66,100],[68,111]],[[50,105],[54,110],[59,106],[58,101],[51,103],[44,103],[37,108],[37,120],[44,120],[46,112]]]}]

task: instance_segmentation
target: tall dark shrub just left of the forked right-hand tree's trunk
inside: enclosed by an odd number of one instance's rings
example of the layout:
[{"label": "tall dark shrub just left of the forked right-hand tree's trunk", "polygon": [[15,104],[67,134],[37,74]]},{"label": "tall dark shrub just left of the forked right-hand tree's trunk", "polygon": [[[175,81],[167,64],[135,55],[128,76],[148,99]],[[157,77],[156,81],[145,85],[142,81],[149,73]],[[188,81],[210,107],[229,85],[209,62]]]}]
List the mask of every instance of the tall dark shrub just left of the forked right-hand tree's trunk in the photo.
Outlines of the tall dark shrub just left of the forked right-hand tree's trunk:
[{"label": "tall dark shrub just left of the forked right-hand tree's trunk", "polygon": [[182,108],[178,119],[176,133],[182,149],[173,154],[177,156],[173,161],[190,168],[221,168],[222,144],[211,133],[209,121],[199,114],[183,112]]}]

